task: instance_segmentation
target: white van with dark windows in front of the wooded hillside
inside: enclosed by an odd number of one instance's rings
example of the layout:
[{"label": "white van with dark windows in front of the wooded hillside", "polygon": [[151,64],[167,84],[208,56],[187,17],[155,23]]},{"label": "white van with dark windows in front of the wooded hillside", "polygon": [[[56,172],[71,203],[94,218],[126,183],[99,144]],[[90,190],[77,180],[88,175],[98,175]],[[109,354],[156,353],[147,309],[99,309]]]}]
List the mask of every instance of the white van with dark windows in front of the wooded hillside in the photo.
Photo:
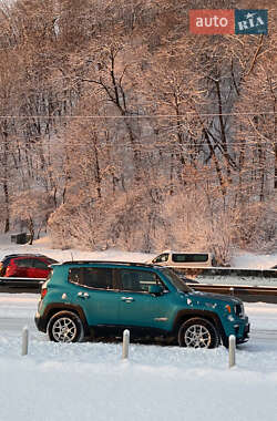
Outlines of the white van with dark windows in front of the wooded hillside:
[{"label": "white van with dark windows in front of the wooded hillside", "polygon": [[148,260],[151,264],[160,266],[176,267],[212,267],[216,266],[213,253],[186,253],[166,250]]}]

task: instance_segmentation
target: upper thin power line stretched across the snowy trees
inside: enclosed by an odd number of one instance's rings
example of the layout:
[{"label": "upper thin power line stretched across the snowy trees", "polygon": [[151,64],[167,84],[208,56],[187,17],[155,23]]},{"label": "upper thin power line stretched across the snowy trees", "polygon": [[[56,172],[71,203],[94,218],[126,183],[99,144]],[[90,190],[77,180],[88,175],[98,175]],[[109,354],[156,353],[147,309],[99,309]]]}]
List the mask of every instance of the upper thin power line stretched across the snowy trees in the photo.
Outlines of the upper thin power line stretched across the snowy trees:
[{"label": "upper thin power line stretched across the snowy trees", "polygon": [[259,111],[259,112],[246,112],[246,113],[195,113],[187,111],[184,114],[133,114],[133,115],[0,115],[0,119],[184,119],[187,115],[195,116],[237,116],[237,115],[275,115],[277,111]]}]

